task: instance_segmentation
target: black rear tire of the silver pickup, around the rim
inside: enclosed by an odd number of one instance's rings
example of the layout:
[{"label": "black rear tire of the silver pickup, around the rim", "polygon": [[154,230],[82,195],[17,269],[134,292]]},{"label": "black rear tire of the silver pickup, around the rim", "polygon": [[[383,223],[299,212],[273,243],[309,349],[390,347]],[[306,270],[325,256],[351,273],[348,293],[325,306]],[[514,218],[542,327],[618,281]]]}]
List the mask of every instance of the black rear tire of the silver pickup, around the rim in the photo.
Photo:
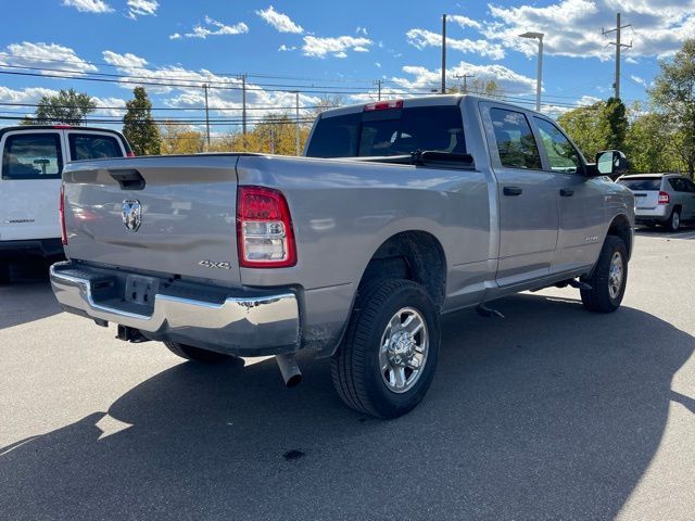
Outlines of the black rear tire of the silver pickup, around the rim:
[{"label": "black rear tire of the silver pickup, around the rim", "polygon": [[[404,308],[416,310],[425,323],[414,338],[420,335],[417,338],[422,342],[421,335],[427,336],[427,357],[410,389],[394,392],[382,377],[380,344],[389,322]],[[415,408],[434,377],[440,344],[439,319],[437,306],[416,282],[379,279],[361,288],[345,338],[331,358],[333,385],[343,402],[359,412],[379,418],[396,418]],[[413,374],[412,369],[405,370]]]}]

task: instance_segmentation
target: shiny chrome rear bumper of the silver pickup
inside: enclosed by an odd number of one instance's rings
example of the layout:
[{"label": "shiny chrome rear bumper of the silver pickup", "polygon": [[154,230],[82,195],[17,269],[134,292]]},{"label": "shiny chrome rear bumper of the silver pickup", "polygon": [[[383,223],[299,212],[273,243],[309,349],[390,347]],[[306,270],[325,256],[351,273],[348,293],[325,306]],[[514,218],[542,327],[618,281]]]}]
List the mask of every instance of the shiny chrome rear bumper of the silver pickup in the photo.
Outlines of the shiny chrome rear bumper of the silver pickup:
[{"label": "shiny chrome rear bumper of the silver pickup", "polygon": [[141,314],[94,297],[94,284],[104,284],[102,274],[70,262],[54,264],[50,272],[53,293],[65,310],[138,329],[151,340],[241,356],[291,353],[300,345],[299,304],[289,290],[240,290],[210,301],[163,290],[152,309]]}]

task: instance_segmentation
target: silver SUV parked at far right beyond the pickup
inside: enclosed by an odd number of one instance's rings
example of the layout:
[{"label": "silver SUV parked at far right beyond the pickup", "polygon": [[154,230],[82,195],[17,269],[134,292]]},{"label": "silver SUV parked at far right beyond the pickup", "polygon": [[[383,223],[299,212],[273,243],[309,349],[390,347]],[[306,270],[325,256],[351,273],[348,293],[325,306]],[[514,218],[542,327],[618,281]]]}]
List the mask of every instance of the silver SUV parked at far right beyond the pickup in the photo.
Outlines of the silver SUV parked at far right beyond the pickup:
[{"label": "silver SUV parked at far right beyond the pickup", "polygon": [[688,178],[680,174],[635,174],[622,176],[618,182],[634,194],[636,224],[678,231],[681,224],[695,221],[695,183]]}]

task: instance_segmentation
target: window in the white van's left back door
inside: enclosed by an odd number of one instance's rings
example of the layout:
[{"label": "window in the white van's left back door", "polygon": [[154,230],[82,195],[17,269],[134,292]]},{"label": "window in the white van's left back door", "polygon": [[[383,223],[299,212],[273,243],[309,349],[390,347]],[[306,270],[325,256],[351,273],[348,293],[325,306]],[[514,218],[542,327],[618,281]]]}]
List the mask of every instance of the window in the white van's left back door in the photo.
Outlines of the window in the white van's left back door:
[{"label": "window in the white van's left back door", "polygon": [[56,132],[8,136],[2,149],[2,179],[60,179],[63,170]]}]

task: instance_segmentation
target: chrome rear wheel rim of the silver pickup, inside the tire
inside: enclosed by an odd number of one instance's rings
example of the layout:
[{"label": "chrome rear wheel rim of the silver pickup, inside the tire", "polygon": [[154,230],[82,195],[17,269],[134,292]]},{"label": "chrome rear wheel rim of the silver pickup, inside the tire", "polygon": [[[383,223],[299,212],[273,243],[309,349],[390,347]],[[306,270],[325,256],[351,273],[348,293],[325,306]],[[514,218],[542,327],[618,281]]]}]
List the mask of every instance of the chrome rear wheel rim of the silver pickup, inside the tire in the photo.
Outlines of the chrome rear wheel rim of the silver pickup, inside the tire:
[{"label": "chrome rear wheel rim of the silver pickup, inside the tire", "polygon": [[413,389],[427,363],[429,335],[422,315],[404,307],[391,317],[379,350],[381,379],[389,391],[405,393]]}]

